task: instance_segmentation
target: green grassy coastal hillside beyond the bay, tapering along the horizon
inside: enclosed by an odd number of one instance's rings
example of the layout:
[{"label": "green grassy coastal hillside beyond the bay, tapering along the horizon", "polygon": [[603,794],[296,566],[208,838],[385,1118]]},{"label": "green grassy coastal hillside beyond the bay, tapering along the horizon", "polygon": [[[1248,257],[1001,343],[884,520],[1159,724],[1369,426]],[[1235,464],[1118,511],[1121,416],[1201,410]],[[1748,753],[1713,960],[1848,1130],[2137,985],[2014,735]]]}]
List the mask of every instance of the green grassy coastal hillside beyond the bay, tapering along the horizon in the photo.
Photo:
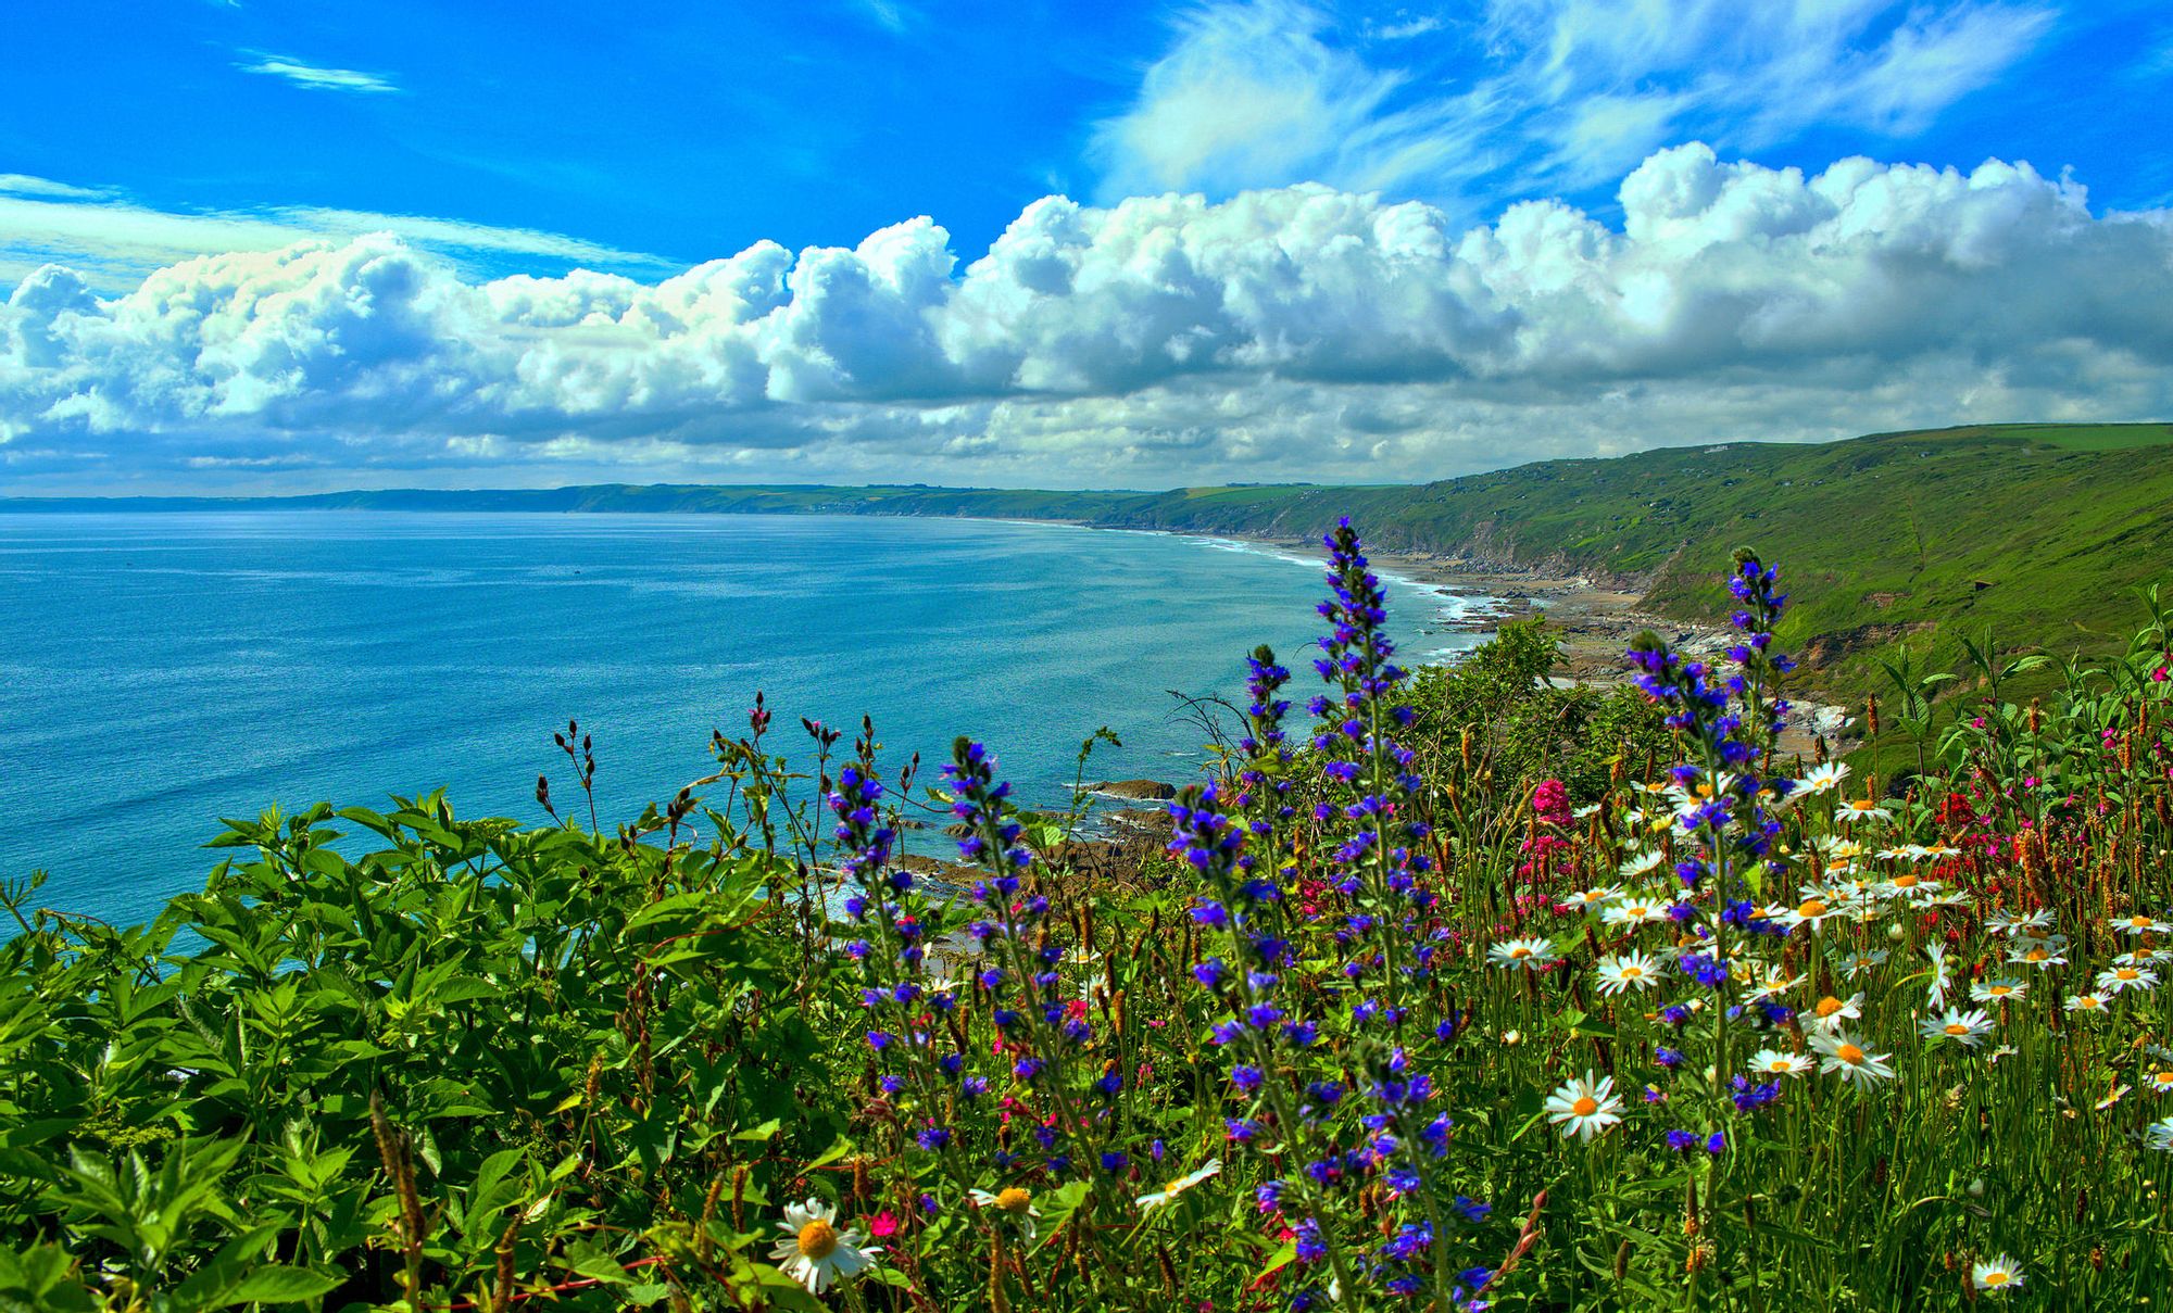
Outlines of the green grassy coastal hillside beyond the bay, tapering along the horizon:
[{"label": "green grassy coastal hillside beyond the bay, tapering along the horizon", "polygon": [[[1834,691],[1925,626],[1990,626],[2004,646],[2112,646],[2130,589],[2173,578],[2173,426],[2012,424],[1836,443],[1665,448],[1545,461],[1423,487],[1034,491],[893,485],[604,485],[552,491],[378,491],[296,507],[502,511],[782,511],[1078,520],[1130,528],[1315,535],[1358,520],[1382,550],[1460,552],[1634,580],[1647,604],[1712,615],[1736,543],[1784,567],[1801,604],[1788,641]],[[165,502],[178,507],[180,502]],[[246,507],[265,502],[189,502]],[[0,502],[28,509],[24,502]],[[41,509],[85,502],[41,502]],[[156,502],[113,502],[150,509]],[[1988,587],[1977,587],[1977,583]],[[1951,646],[1951,639],[1949,639]]]}]

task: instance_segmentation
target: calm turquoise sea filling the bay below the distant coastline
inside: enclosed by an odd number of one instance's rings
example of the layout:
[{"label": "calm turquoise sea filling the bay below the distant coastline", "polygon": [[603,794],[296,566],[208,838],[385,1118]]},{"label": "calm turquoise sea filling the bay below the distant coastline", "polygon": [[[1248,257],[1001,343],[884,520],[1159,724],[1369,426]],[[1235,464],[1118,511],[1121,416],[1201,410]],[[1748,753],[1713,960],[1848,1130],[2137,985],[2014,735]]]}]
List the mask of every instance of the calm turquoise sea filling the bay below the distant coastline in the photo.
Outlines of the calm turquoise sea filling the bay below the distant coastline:
[{"label": "calm turquoise sea filling the bay below the distant coastline", "polygon": [[[711,728],[774,741],[863,711],[924,783],[982,737],[1019,796],[1182,778],[1165,689],[1243,689],[1269,641],[1310,696],[1319,567],[1147,533],[824,515],[261,511],[0,515],[0,876],[150,917],[219,815],[450,789],[467,815],[576,800],[552,730],[595,735],[604,824],[706,774]],[[1391,580],[1404,654],[1462,602]],[[843,746],[843,743],[841,743]]]}]

